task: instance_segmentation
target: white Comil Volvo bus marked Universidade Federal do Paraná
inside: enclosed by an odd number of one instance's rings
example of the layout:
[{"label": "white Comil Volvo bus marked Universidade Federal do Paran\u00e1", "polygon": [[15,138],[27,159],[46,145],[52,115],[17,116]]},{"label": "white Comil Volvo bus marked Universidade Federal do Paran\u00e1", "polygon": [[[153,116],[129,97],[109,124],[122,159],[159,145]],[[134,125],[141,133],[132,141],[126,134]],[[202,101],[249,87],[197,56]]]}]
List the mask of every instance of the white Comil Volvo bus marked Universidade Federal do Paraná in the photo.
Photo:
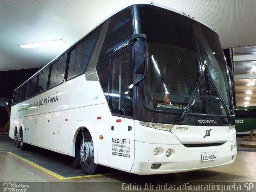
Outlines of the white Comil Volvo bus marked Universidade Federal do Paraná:
[{"label": "white Comil Volvo bus marked Universidade Federal do Paran\u00e1", "polygon": [[10,137],[103,165],[165,174],[231,164],[232,86],[218,35],[184,13],[135,4],[14,90]]}]

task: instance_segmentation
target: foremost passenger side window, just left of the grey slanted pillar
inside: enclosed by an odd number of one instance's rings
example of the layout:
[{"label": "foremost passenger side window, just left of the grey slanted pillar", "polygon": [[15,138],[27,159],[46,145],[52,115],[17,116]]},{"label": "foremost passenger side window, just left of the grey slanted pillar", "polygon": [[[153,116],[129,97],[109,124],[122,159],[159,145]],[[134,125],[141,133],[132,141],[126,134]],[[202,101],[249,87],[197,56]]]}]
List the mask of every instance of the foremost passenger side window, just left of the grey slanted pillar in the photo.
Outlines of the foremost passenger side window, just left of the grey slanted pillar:
[{"label": "foremost passenger side window, just left of the grey slanted pillar", "polygon": [[71,51],[68,66],[68,79],[84,72],[92,54],[92,50],[96,44],[98,35],[99,30]]}]

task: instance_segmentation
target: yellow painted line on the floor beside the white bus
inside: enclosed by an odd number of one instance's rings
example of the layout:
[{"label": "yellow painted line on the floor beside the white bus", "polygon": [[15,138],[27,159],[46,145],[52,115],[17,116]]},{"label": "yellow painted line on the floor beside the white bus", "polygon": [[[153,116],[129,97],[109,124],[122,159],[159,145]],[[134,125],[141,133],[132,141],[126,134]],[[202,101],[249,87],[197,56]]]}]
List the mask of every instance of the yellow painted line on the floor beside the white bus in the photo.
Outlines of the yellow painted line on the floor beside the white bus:
[{"label": "yellow painted line on the floor beside the white bus", "polygon": [[84,176],[64,177],[64,176],[61,176],[61,175],[59,175],[59,174],[56,174],[56,173],[54,173],[54,172],[52,172],[52,171],[50,171],[50,170],[48,170],[48,169],[46,169],[46,168],[44,168],[44,167],[38,165],[38,164],[35,164],[35,163],[31,162],[30,160],[27,160],[27,159],[25,159],[25,158],[23,158],[23,157],[21,157],[21,156],[18,156],[18,155],[16,155],[16,154],[12,153],[12,152],[9,152],[9,151],[0,151],[0,152],[6,152],[6,153],[8,153],[8,154],[10,154],[10,155],[12,155],[12,156],[14,156],[14,157],[16,157],[16,158],[18,158],[18,159],[24,161],[24,162],[26,162],[26,163],[28,163],[28,164],[34,166],[34,167],[36,167],[36,168],[38,168],[38,169],[40,169],[40,170],[42,170],[42,171],[44,171],[44,172],[50,174],[51,176],[54,176],[54,177],[60,179],[60,180],[64,180],[64,179],[73,179],[73,178],[96,177],[96,176],[108,175],[108,174],[96,174],[96,175],[84,175]]}]

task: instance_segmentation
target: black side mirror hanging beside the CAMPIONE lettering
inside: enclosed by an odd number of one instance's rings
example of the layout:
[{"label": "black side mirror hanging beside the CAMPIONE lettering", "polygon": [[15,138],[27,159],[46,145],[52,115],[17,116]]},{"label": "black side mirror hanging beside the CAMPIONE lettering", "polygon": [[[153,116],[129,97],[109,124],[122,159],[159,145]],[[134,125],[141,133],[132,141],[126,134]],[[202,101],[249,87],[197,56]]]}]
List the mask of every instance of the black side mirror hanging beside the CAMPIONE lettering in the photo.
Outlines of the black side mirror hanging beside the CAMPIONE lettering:
[{"label": "black side mirror hanging beside the CAMPIONE lettering", "polygon": [[136,74],[145,74],[146,67],[146,52],[145,42],[135,42],[135,54],[134,54],[134,68]]}]

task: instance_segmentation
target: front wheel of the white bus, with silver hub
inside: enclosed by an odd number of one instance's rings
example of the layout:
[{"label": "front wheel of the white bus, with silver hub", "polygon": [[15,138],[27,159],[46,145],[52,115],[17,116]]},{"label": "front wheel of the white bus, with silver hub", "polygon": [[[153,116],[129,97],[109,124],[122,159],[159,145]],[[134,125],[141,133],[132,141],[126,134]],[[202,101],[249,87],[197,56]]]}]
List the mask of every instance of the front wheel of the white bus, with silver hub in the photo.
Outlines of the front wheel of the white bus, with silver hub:
[{"label": "front wheel of the white bus, with silver hub", "polygon": [[97,169],[97,164],[94,163],[93,142],[88,132],[86,132],[84,136],[84,143],[83,139],[81,139],[79,153],[82,171],[87,175],[94,174]]}]

